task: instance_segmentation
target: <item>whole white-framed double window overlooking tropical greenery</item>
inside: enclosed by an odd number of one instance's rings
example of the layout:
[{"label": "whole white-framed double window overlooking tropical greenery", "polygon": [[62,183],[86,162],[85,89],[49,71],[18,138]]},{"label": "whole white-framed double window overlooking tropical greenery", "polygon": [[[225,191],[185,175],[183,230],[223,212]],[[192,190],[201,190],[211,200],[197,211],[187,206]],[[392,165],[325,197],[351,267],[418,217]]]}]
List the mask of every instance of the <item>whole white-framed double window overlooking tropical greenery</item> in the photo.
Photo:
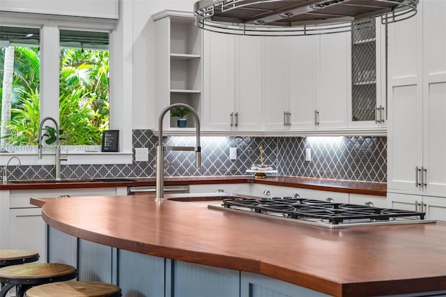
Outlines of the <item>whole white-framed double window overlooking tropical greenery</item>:
[{"label": "whole white-framed double window overlooking tropical greenery", "polygon": [[[100,146],[111,119],[109,36],[114,22],[38,15],[2,19],[0,151],[33,151],[40,121],[47,116],[59,123],[63,146]],[[45,122],[43,134],[54,132],[51,121]],[[44,144],[52,144],[51,138],[44,138]]]}]

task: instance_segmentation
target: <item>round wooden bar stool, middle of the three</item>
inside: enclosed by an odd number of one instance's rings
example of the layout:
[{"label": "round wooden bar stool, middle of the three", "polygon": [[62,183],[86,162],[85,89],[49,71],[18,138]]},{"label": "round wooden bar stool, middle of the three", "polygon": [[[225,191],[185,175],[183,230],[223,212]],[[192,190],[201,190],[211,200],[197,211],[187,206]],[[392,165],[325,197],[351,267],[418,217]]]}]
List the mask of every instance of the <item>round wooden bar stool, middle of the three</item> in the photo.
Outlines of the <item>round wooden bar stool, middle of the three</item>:
[{"label": "round wooden bar stool, middle of the three", "polygon": [[61,282],[77,277],[73,266],[56,263],[31,263],[0,268],[0,282],[3,287],[0,297],[5,297],[8,291],[17,286],[17,297],[23,297],[26,290],[39,284]]}]

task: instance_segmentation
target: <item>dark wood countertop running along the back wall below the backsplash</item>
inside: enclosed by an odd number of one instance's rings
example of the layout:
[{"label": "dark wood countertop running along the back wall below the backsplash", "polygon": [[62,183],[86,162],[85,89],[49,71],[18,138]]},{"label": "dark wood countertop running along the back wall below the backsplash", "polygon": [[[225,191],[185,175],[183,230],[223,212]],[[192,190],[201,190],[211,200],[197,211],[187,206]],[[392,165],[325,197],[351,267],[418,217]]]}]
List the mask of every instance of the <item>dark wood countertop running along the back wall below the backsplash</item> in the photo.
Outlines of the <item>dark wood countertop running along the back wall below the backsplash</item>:
[{"label": "dark wood countertop running along the back wall below the backsplash", "polygon": [[[107,188],[155,185],[155,178],[135,178],[129,182],[79,181],[70,183],[8,183],[0,185],[0,190],[58,189],[58,188]],[[306,188],[331,192],[345,192],[360,195],[387,196],[386,183],[369,183],[362,181],[337,181],[323,178],[303,178],[292,176],[274,176],[263,179],[252,176],[188,176],[164,178],[165,185],[206,185],[214,183],[259,183],[291,188]]]}]

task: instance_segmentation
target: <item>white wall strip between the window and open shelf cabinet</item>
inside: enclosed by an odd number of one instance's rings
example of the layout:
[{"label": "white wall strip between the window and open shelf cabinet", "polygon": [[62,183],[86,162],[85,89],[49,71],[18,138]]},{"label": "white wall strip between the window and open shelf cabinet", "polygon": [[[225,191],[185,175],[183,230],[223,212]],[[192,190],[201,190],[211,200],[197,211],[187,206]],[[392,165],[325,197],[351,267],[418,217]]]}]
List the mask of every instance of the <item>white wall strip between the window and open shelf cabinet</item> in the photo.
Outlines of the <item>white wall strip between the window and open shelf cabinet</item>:
[{"label": "white wall strip between the window and open shelf cabinet", "polygon": [[[153,77],[154,69],[154,26],[151,15],[162,10],[192,11],[196,1],[132,1],[132,41],[133,41],[133,129],[153,129],[158,119],[153,119],[154,98]],[[198,0],[197,0],[198,1]],[[128,15],[126,15],[128,17]]]}]

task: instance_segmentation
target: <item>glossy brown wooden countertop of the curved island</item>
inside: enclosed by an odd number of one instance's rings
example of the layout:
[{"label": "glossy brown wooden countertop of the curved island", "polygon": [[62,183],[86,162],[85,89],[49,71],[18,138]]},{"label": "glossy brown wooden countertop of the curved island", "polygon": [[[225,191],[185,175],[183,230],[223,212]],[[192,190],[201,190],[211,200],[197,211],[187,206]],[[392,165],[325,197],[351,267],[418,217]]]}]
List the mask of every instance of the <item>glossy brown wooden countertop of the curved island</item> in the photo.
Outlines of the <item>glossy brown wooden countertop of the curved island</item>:
[{"label": "glossy brown wooden countertop of the curved island", "polygon": [[43,207],[50,226],[88,241],[261,273],[333,296],[446,290],[446,222],[329,229],[209,209],[221,202],[203,201],[227,196],[31,199],[31,204]]}]

